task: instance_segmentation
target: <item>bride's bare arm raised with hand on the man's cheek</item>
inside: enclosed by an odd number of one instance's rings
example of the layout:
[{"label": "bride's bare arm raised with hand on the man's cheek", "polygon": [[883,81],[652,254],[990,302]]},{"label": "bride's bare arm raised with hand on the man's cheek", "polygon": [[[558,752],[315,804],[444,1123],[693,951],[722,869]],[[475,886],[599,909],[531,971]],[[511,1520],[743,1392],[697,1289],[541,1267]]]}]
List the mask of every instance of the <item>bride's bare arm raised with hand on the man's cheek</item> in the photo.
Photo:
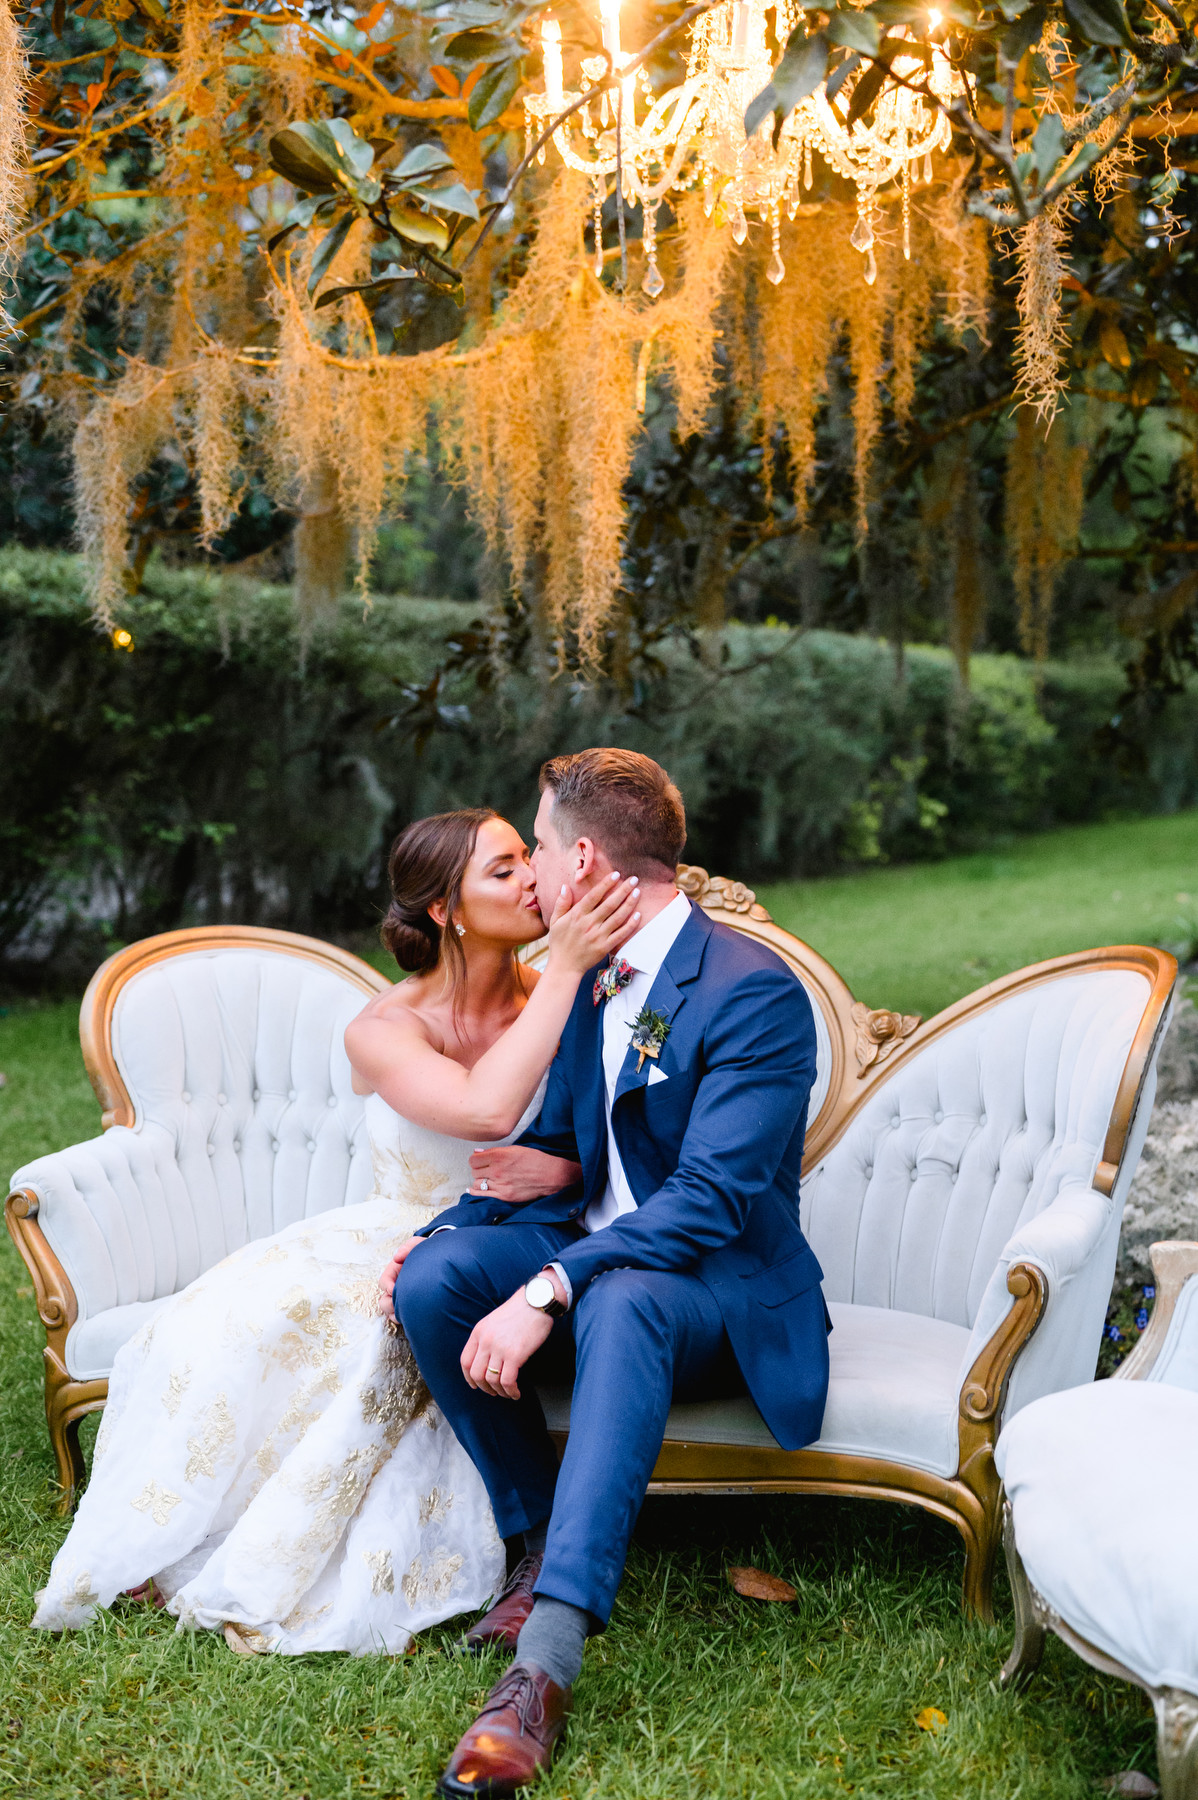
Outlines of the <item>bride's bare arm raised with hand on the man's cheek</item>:
[{"label": "bride's bare arm raised with hand on the man's cheek", "polygon": [[394,1112],[446,1138],[507,1138],[552,1062],[583,974],[622,943],[640,918],[635,880],[597,884],[554,913],[549,959],[520,1017],[464,1069],[425,1037],[412,1012],[360,1013],[345,1028],[353,1067]]}]

